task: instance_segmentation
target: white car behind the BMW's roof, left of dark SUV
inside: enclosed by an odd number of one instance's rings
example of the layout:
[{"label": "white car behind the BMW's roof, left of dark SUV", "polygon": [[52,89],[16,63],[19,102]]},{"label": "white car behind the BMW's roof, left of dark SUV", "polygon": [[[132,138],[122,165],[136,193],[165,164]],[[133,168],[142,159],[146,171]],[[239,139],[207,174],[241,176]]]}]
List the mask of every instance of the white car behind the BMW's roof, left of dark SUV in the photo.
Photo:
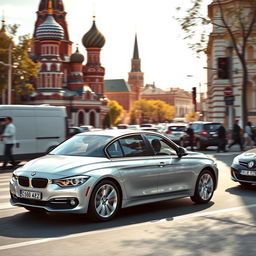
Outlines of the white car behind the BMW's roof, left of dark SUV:
[{"label": "white car behind the BMW's roof, left of dark SUV", "polygon": [[171,123],[166,125],[163,132],[169,139],[179,144],[181,138],[186,134],[187,127],[186,123]]}]

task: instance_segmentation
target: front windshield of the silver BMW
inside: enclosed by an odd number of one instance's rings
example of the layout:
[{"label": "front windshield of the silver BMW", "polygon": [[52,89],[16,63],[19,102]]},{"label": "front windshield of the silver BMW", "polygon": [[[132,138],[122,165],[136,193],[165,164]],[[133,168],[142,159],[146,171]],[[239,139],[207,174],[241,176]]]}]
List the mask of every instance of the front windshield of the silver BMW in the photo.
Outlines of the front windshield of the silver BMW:
[{"label": "front windshield of the silver BMW", "polygon": [[103,135],[77,135],[60,144],[50,154],[105,157],[103,148],[111,139]]}]

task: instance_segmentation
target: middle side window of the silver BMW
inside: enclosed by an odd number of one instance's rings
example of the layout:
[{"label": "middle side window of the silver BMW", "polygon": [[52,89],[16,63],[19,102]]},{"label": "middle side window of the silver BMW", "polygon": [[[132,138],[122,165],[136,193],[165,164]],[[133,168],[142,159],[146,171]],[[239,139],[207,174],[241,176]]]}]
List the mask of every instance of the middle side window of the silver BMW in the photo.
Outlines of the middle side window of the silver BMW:
[{"label": "middle side window of the silver BMW", "polygon": [[121,138],[119,142],[126,157],[151,155],[140,135],[127,136]]}]

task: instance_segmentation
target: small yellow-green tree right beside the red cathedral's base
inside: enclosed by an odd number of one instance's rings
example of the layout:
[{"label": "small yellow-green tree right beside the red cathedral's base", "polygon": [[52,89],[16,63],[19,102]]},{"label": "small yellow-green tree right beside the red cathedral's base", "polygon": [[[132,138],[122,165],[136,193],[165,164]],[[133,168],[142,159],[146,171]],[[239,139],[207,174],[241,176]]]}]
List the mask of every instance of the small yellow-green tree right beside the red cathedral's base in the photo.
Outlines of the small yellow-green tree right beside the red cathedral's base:
[{"label": "small yellow-green tree right beside the red cathedral's base", "polygon": [[124,109],[115,100],[110,100],[108,102],[109,111],[105,116],[104,125],[107,127],[112,127],[118,124],[120,118],[124,112]]}]

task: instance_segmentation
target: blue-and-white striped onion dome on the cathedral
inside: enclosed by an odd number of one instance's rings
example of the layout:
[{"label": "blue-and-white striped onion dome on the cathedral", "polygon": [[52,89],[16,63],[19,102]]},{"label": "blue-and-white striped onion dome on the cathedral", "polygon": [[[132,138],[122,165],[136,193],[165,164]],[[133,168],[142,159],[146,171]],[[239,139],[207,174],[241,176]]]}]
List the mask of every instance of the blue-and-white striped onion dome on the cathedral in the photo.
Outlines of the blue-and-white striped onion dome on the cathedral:
[{"label": "blue-and-white striped onion dome on the cathedral", "polygon": [[61,40],[64,38],[64,30],[52,15],[48,15],[45,22],[36,29],[36,37],[39,40]]}]

